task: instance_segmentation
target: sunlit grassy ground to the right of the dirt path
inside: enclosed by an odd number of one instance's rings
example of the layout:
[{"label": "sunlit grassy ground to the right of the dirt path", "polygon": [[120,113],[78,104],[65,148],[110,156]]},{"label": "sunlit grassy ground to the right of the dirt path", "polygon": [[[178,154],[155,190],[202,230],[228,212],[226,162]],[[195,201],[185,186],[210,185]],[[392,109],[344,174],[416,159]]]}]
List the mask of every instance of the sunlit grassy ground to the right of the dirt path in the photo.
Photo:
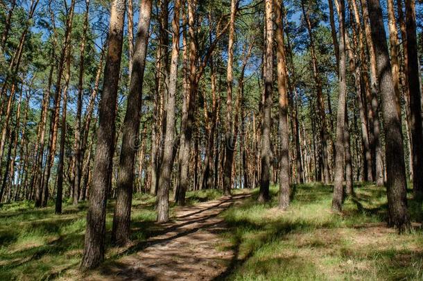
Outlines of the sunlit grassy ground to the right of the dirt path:
[{"label": "sunlit grassy ground to the right of the dirt path", "polygon": [[[221,278],[228,280],[423,280],[423,232],[397,235],[386,227],[384,189],[364,186],[332,214],[331,188],[297,187],[288,211],[273,201],[258,204],[257,191],[223,214],[230,229],[221,248],[236,257]],[[420,210],[419,210],[420,209]],[[421,207],[409,201],[412,221]],[[414,223],[416,226],[416,223]]]}]

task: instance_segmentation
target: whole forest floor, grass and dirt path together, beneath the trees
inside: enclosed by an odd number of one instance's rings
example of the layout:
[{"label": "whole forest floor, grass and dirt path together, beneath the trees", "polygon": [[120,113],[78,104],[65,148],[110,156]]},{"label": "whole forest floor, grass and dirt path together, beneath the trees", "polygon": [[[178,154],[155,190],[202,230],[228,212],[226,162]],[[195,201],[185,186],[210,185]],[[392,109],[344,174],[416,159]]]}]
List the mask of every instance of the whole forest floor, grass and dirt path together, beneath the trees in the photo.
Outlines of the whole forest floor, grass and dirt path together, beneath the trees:
[{"label": "whole forest floor, grass and dirt path together, beneath the trees", "polygon": [[357,185],[342,215],[330,212],[331,187],[298,185],[288,211],[257,203],[257,189],[188,194],[155,223],[154,198],[136,194],[132,244],[110,245],[114,202],[107,205],[107,254],[96,271],[80,273],[87,206],[32,202],[0,208],[0,280],[423,280],[422,205],[411,199],[413,230],[386,226],[386,192]]}]

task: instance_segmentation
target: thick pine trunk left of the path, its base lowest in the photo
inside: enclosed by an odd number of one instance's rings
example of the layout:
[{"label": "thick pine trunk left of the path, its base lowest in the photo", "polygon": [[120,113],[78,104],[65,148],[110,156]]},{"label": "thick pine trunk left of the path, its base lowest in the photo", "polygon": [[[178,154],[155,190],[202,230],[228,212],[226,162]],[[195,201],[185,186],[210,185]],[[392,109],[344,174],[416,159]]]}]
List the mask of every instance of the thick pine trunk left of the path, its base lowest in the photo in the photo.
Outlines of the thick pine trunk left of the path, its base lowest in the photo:
[{"label": "thick pine trunk left of the path, its base lowest in the photo", "polygon": [[109,46],[103,80],[103,95],[99,108],[94,177],[89,189],[87,230],[82,270],[93,269],[104,259],[105,208],[112,175],[112,158],[115,134],[115,105],[121,68],[123,23],[126,0],[114,0],[110,12]]}]

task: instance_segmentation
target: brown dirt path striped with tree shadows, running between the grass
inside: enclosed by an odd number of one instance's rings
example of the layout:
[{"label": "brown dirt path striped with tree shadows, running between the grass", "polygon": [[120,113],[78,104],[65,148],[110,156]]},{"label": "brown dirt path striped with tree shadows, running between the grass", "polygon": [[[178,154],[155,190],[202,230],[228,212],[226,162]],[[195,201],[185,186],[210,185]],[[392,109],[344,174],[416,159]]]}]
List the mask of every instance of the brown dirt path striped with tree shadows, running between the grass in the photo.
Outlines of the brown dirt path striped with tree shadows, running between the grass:
[{"label": "brown dirt path striped with tree shadows, running between the grass", "polygon": [[[234,258],[232,250],[217,250],[227,225],[219,216],[242,202],[250,191],[214,201],[178,207],[162,235],[150,237],[136,253],[122,257],[100,270],[91,280],[214,280],[225,275]],[[99,277],[99,276],[97,276]]]}]

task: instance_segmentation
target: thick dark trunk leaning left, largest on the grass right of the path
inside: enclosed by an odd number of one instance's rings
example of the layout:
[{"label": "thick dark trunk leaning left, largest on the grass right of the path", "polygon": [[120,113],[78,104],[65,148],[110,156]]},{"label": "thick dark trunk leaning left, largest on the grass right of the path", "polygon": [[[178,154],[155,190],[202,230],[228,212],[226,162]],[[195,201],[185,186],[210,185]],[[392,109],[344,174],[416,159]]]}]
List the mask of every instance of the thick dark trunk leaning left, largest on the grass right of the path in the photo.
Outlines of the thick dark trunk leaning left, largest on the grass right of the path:
[{"label": "thick dark trunk leaning left, largest on the grass right of the path", "polygon": [[385,129],[386,174],[388,189],[388,213],[390,224],[399,232],[409,228],[407,214],[407,182],[404,164],[401,120],[397,112],[396,97],[392,83],[386,32],[383,26],[379,0],[368,0],[370,27],[377,60],[377,76],[382,98]]}]

